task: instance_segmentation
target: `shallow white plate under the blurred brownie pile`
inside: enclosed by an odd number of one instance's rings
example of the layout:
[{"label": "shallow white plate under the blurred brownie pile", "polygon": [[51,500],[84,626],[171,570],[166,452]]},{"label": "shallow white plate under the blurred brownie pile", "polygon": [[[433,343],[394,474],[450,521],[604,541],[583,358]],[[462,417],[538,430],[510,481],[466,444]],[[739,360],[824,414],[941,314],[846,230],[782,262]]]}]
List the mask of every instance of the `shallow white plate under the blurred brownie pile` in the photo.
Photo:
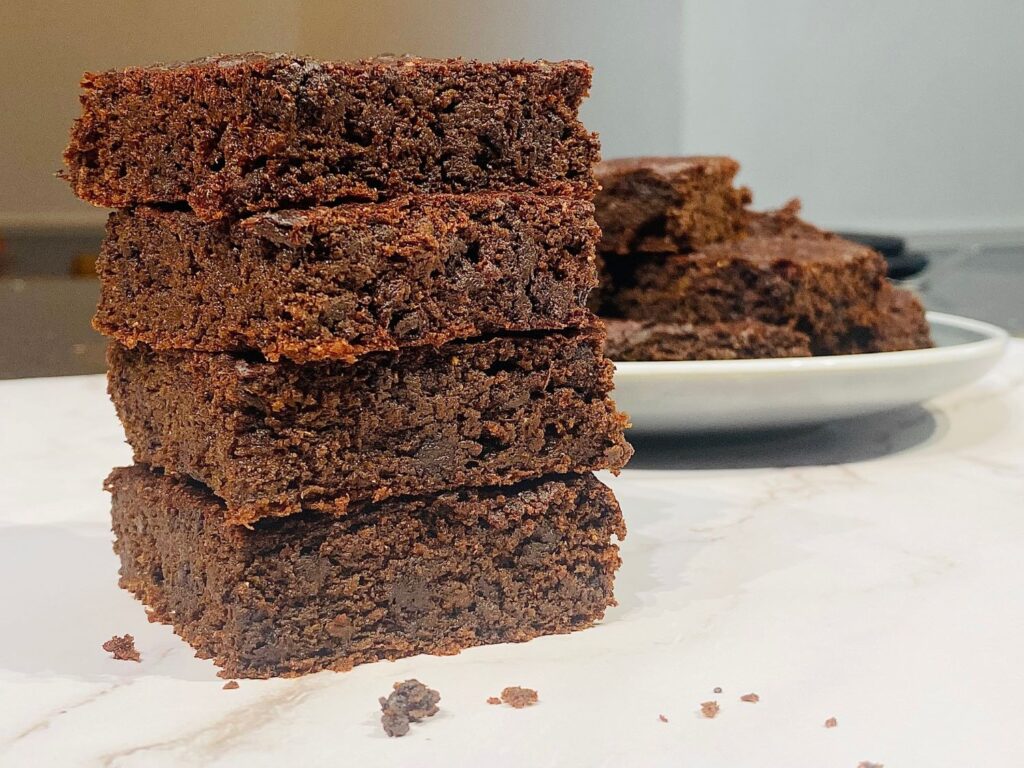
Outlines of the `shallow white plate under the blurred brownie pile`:
[{"label": "shallow white plate under the blurred brownie pile", "polygon": [[921,403],[975,381],[1008,334],[929,312],[936,346],[905,352],[615,364],[615,401],[640,432],[707,432],[819,424]]}]

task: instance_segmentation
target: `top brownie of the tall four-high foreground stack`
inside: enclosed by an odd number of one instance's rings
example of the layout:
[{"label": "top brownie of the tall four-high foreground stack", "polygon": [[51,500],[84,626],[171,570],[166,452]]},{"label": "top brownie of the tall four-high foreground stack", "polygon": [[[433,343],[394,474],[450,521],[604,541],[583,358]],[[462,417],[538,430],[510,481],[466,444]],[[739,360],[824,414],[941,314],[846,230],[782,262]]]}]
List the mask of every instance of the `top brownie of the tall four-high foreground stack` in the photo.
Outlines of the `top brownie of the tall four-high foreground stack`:
[{"label": "top brownie of the tall four-high foreground stack", "polygon": [[416,191],[590,197],[585,61],[271,53],[88,74],[65,177],[83,200],[225,215]]}]

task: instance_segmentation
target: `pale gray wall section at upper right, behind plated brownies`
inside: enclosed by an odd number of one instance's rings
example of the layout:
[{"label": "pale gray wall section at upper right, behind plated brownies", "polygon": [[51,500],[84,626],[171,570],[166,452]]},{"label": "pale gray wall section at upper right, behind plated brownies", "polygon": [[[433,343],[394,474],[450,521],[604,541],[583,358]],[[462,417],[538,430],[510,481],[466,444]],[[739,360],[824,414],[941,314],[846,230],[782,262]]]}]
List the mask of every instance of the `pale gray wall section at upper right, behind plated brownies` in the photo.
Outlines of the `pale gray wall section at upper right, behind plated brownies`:
[{"label": "pale gray wall section at upper right, behind plated brownies", "polygon": [[688,0],[683,147],[835,227],[1024,232],[1024,2]]}]

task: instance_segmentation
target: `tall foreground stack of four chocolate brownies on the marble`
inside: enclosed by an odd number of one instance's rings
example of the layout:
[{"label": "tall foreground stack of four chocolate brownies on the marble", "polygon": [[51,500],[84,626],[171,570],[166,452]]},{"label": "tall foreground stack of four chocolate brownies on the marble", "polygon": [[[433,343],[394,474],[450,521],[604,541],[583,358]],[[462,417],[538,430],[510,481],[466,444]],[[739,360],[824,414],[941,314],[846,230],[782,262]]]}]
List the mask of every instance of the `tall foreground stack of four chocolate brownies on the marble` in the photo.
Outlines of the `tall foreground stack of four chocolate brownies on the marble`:
[{"label": "tall foreground stack of four chocolate brownies on the marble", "polygon": [[121,583],[230,676],[586,627],[631,450],[580,61],[88,75]]}]

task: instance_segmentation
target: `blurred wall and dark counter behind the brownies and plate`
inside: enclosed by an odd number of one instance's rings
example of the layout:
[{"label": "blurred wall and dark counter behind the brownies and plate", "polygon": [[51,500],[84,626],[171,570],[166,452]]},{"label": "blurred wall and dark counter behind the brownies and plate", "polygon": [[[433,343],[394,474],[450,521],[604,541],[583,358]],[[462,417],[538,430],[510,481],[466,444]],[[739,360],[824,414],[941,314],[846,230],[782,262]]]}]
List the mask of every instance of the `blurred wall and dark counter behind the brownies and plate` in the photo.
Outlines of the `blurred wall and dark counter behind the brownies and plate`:
[{"label": "blurred wall and dark counter behind the brownies and plate", "polygon": [[1024,332],[1021,0],[2,0],[0,29],[0,378],[102,370],[105,212],[54,177],[82,73],[245,50],[586,58],[605,157],[731,155],[759,206],[898,236],[930,308]]}]

